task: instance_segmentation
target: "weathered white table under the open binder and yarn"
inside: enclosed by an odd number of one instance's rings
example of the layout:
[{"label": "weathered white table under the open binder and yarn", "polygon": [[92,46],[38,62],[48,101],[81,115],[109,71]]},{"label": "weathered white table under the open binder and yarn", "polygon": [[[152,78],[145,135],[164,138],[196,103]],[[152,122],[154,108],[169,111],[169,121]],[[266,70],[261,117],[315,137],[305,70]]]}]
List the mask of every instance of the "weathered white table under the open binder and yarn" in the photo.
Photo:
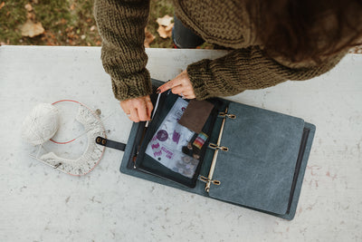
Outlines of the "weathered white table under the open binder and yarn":
[{"label": "weathered white table under the open binder and yarn", "polygon": [[[153,78],[167,81],[221,51],[148,49]],[[317,126],[292,221],[119,173],[123,153],[71,177],[28,156],[26,114],[71,98],[99,108],[109,138],[126,142],[131,122],[111,92],[97,47],[0,47],[0,241],[361,241],[362,55],[331,72],[230,99]]]}]

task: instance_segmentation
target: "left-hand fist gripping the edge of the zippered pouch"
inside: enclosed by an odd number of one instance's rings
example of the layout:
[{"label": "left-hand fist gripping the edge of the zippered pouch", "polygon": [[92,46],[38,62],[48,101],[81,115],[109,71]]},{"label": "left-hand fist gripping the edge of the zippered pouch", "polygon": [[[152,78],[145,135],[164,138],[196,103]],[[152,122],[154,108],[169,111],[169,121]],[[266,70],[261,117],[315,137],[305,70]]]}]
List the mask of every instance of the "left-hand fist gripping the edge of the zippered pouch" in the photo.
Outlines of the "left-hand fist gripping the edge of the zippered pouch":
[{"label": "left-hand fist gripping the edge of the zippered pouch", "polygon": [[123,111],[131,121],[149,121],[153,105],[149,95],[120,102]]}]

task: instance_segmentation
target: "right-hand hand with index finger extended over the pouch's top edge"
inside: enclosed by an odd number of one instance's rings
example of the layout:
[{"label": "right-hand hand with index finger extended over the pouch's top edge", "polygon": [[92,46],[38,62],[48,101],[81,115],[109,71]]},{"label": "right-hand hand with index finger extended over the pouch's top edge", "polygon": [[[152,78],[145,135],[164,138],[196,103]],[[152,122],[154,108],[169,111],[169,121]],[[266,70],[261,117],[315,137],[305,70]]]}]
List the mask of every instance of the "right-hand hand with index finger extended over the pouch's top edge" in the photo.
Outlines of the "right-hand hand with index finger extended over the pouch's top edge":
[{"label": "right-hand hand with index finger extended over the pouch's top edge", "polygon": [[186,99],[194,99],[195,92],[190,79],[188,78],[187,71],[179,73],[173,80],[166,82],[157,88],[157,93],[162,93],[171,89],[172,93],[180,95]]}]

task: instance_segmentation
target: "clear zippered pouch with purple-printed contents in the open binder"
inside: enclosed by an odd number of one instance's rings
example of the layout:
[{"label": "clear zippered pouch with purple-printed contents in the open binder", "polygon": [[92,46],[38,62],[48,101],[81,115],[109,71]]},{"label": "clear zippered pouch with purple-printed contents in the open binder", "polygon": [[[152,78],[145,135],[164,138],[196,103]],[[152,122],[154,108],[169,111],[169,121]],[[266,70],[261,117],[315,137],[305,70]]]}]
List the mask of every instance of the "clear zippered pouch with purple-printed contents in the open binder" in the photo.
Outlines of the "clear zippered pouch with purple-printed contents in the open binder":
[{"label": "clear zippered pouch with purple-printed contents in the open binder", "polygon": [[199,134],[178,123],[188,101],[172,92],[162,93],[154,119],[149,123],[139,146],[136,169],[194,188],[204,161],[206,145],[197,156],[188,148],[196,139],[204,139],[203,142],[207,143],[206,137],[213,129],[220,106],[219,101],[209,102],[214,102],[214,109],[205,122],[205,136],[200,138]]}]

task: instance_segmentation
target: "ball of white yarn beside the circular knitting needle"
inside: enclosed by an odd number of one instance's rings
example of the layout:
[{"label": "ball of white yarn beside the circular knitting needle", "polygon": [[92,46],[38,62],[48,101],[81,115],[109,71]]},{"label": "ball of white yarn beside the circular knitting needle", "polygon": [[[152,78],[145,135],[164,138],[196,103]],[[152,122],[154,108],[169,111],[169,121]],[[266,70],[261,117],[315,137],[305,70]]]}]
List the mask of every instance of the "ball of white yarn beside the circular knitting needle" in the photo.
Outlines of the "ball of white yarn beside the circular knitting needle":
[{"label": "ball of white yarn beside the circular knitting needle", "polygon": [[58,110],[50,103],[36,105],[23,121],[23,139],[33,145],[43,144],[58,131]]}]

